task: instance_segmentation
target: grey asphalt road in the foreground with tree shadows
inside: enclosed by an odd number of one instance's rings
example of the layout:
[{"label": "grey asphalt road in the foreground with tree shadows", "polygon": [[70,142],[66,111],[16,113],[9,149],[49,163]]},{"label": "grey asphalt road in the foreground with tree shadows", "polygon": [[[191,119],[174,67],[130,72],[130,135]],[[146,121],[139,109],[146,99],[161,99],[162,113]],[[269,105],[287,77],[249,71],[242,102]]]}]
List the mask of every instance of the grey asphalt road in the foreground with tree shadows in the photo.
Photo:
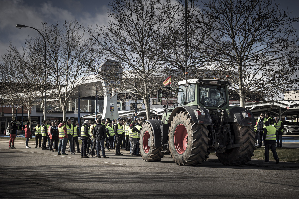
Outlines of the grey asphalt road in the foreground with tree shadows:
[{"label": "grey asphalt road in the foreground with tree shadows", "polygon": [[62,156],[0,143],[0,198],[298,198],[299,169]]}]

